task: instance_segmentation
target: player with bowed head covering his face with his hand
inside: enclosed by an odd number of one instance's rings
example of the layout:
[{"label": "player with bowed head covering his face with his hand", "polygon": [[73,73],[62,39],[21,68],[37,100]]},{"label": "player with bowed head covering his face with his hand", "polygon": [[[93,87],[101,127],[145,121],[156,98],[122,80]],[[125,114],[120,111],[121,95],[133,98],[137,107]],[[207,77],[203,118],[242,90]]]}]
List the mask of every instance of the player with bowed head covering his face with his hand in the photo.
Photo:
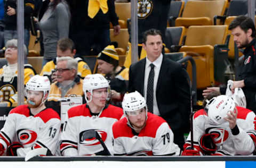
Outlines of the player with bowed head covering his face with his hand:
[{"label": "player with bowed head covering his face with his hand", "polygon": [[232,97],[217,95],[208,95],[204,109],[194,114],[194,149],[190,147],[190,132],[182,155],[252,155],[255,152],[254,112],[237,106],[239,102]]}]

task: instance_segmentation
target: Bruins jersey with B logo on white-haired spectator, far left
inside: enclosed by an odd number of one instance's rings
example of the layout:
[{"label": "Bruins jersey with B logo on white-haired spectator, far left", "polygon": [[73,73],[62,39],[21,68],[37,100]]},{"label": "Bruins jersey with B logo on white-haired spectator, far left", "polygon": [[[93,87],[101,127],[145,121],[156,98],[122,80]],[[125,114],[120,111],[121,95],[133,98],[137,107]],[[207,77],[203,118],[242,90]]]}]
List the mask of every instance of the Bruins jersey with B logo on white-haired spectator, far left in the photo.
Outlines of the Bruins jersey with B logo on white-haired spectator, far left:
[{"label": "Bruins jersey with B logo on white-haired spectator, far left", "polygon": [[[7,106],[11,106],[15,102],[15,94],[17,93],[18,72],[10,72],[10,68],[4,65],[0,69],[0,102],[8,102]],[[36,74],[36,71],[30,64],[24,65],[24,85],[28,80]]]}]

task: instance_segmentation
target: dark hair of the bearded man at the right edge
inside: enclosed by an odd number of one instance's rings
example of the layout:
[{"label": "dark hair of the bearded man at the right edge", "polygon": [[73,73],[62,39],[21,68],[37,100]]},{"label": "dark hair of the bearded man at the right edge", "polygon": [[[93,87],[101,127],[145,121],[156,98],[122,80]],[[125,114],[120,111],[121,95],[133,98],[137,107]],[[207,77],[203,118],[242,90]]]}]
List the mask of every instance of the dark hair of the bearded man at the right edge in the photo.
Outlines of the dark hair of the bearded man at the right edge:
[{"label": "dark hair of the bearded man at the right edge", "polygon": [[247,32],[247,30],[252,29],[252,35],[251,37],[255,37],[255,26],[254,22],[251,18],[244,16],[244,15],[239,15],[237,16],[230,24],[228,27],[228,30],[235,29],[236,27],[240,27],[244,32]]}]

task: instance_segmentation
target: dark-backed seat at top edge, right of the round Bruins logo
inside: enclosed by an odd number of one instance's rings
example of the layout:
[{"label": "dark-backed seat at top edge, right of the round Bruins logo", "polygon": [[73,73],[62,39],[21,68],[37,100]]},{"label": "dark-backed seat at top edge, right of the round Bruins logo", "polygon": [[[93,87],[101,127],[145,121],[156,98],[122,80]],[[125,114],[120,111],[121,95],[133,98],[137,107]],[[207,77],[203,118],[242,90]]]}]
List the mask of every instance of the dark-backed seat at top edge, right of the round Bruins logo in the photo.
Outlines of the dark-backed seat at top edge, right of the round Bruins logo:
[{"label": "dark-backed seat at top edge, right of the round Bruins logo", "polygon": [[170,10],[167,18],[167,27],[174,27],[175,20],[181,17],[181,13],[184,9],[184,1],[171,1]]}]

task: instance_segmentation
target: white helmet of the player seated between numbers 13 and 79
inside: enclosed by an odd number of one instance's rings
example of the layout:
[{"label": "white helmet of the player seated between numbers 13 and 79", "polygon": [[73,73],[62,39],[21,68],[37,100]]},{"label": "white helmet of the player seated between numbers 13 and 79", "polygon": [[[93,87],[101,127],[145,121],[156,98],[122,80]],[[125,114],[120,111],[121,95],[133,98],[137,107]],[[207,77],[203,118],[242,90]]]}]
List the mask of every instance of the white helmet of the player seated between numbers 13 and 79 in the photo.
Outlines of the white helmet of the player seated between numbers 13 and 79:
[{"label": "white helmet of the player seated between numbers 13 and 79", "polygon": [[[102,74],[96,73],[96,74],[89,74],[86,75],[83,81],[83,91],[85,100],[87,103],[91,102],[92,100],[92,94],[94,89],[101,89],[101,88],[107,88],[108,89],[108,95],[110,95],[110,86],[105,77],[103,77]],[[87,98],[86,93],[91,93],[90,100]],[[108,96],[107,96],[108,97]]]}]

